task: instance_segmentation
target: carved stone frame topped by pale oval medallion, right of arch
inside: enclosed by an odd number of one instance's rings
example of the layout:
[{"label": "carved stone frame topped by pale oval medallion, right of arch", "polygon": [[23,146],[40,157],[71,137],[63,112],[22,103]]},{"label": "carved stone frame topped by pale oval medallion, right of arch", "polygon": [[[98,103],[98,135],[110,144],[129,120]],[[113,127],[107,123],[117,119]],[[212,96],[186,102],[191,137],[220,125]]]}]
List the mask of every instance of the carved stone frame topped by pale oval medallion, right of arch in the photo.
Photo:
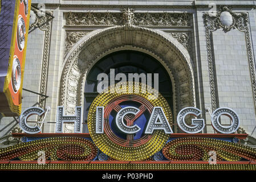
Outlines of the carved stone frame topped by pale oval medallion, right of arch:
[{"label": "carved stone frame topped by pale oval medallion, right of arch", "polygon": [[256,110],[256,77],[255,77],[255,65],[254,56],[251,46],[251,37],[249,30],[249,17],[247,13],[234,13],[228,7],[220,7],[216,16],[211,16],[209,13],[203,15],[205,30],[206,30],[206,48],[208,52],[208,65],[209,65],[209,77],[210,77],[210,93],[212,97],[212,109],[216,110],[219,107],[218,93],[217,93],[217,81],[216,68],[214,66],[214,56],[211,34],[213,31],[222,30],[230,31],[237,28],[237,30],[245,33],[245,42],[247,48],[247,57],[250,68],[251,76],[251,88],[254,97],[254,109]]}]

